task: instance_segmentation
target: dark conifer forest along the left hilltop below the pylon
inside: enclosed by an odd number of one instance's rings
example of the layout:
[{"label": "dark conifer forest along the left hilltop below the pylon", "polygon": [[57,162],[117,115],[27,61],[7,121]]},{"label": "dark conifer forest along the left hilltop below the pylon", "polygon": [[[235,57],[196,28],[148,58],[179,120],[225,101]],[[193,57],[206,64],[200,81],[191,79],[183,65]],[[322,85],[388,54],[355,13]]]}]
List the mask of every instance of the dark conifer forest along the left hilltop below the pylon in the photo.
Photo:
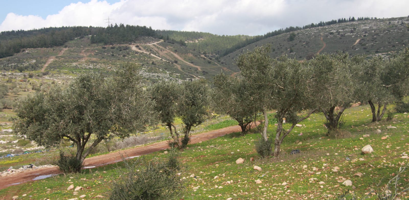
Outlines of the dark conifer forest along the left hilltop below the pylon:
[{"label": "dark conifer forest along the left hilltop below the pylon", "polygon": [[13,56],[25,48],[62,46],[78,37],[91,35],[91,43],[132,42],[139,36],[155,36],[151,27],[115,24],[103,27],[61,27],[0,33],[0,58]]}]

